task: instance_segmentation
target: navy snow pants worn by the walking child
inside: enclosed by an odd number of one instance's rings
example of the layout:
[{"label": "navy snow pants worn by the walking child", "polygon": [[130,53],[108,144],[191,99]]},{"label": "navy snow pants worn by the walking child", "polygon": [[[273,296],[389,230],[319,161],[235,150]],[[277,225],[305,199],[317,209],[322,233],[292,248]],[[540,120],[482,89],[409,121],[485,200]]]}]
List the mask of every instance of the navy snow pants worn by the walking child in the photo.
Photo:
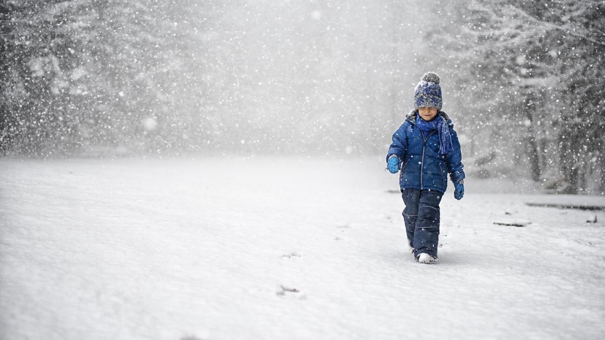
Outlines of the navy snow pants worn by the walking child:
[{"label": "navy snow pants worn by the walking child", "polygon": [[437,257],[439,244],[439,202],[443,192],[434,190],[403,189],[405,233],[414,257],[428,253]]}]

